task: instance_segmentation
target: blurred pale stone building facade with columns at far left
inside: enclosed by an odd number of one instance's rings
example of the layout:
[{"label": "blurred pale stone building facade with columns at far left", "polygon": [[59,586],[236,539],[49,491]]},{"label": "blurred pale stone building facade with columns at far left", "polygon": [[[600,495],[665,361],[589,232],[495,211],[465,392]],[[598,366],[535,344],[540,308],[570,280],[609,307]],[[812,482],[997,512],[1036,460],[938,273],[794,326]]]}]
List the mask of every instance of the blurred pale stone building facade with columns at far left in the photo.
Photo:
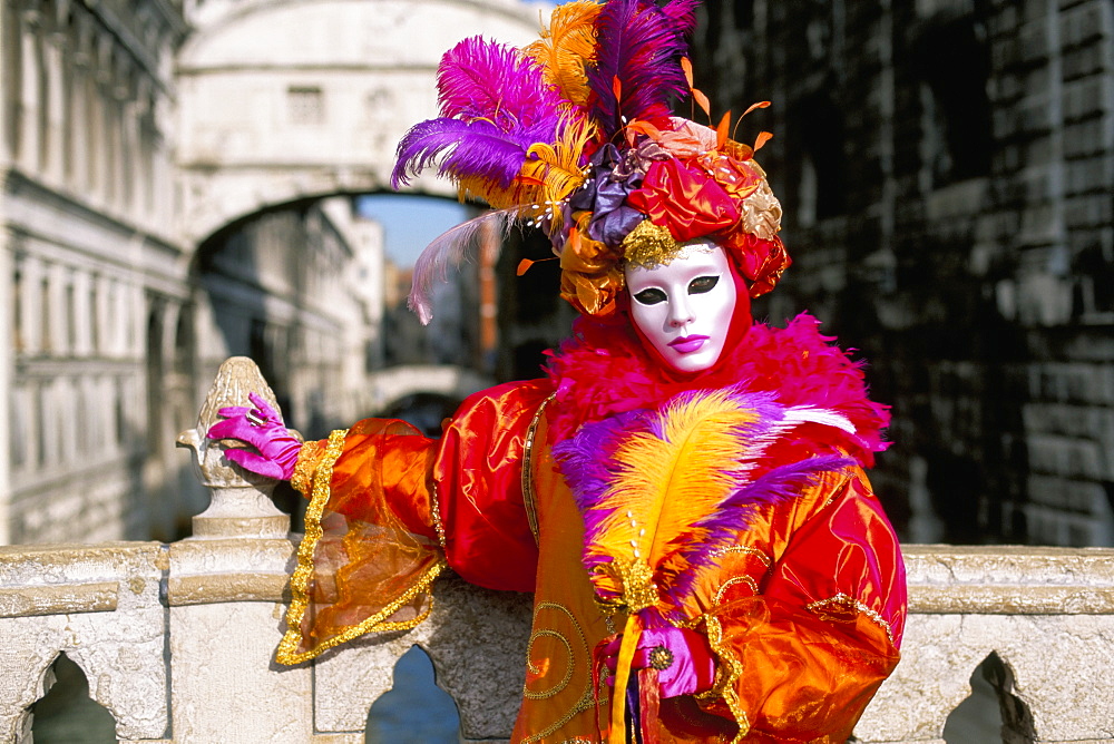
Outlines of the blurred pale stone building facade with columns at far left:
[{"label": "blurred pale stone building facade with columns at far left", "polygon": [[196,398],[175,378],[188,256],[165,117],[184,21],[169,3],[0,13],[0,542],[147,535],[182,490],[163,428]]}]

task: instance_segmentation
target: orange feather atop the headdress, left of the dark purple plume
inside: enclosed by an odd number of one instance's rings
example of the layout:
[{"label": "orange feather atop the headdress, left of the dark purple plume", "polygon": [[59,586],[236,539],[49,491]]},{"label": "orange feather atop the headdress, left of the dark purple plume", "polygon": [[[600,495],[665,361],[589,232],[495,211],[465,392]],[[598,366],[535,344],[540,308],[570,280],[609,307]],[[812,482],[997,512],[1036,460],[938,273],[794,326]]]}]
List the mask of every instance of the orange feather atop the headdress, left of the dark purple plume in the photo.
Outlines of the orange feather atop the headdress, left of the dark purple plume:
[{"label": "orange feather atop the headdress, left of the dark purple plume", "polygon": [[580,107],[588,102],[585,68],[596,60],[594,23],[600,7],[592,0],[558,6],[549,19],[549,28],[541,30],[541,38],[522,50],[541,66],[546,82]]}]

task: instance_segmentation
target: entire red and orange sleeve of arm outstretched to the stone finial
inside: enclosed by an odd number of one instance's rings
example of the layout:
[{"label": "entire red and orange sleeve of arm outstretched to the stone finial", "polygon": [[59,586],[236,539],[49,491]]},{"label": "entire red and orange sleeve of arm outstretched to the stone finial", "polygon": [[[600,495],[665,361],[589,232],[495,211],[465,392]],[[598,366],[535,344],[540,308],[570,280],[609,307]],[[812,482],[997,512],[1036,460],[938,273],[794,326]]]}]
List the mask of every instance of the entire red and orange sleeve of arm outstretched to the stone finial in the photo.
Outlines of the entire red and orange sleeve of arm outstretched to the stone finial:
[{"label": "entire red and orange sleeve of arm outstretched to the stone finial", "polygon": [[367,419],[306,443],[291,483],[310,506],[278,662],[418,625],[447,565],[485,587],[532,590],[537,544],[521,472],[530,422],[550,392],[537,381],[476,393],[441,440]]}]

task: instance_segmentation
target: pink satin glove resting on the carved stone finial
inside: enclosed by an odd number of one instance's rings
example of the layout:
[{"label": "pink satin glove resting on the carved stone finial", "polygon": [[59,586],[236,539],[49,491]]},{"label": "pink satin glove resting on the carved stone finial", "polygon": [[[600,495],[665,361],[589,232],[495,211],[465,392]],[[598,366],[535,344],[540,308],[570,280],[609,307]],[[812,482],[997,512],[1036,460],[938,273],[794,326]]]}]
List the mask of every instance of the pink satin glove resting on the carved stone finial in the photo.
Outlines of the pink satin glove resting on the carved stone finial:
[{"label": "pink satin glove resting on the carved stone finial", "polygon": [[302,442],[283,424],[282,417],[255,393],[248,394],[255,408],[233,405],[217,413],[225,417],[208,430],[209,439],[238,439],[258,452],[227,449],[224,457],[260,476],[290,480],[297,463]]}]

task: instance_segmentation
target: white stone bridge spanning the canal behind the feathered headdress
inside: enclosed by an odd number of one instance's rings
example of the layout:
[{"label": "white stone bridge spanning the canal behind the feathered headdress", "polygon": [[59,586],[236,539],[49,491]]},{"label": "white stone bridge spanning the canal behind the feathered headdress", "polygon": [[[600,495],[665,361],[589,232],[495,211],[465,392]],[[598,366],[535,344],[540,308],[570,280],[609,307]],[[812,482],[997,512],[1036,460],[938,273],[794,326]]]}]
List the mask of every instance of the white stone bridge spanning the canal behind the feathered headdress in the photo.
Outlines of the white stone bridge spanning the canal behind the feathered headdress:
[{"label": "white stone bridge spanning the canal behind the feathered headdress", "polygon": [[[441,53],[520,45],[518,0],[207,0],[177,58],[182,234],[194,246],[267,206],[389,189],[394,148],[437,115]],[[416,192],[448,196],[427,176]]]}]

